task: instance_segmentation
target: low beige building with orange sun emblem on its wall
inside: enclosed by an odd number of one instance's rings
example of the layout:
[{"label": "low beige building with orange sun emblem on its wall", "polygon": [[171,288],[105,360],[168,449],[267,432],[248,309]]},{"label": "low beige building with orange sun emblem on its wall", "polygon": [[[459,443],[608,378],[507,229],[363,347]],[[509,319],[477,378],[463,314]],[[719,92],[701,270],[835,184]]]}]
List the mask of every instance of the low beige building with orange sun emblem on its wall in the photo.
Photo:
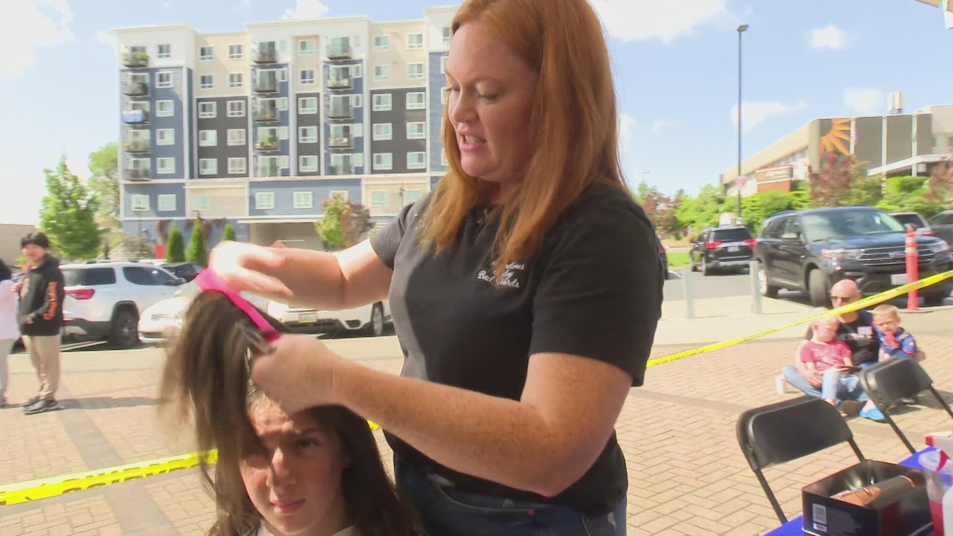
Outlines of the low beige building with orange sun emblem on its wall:
[{"label": "low beige building with orange sun emblem on its wall", "polygon": [[915,113],[814,119],[726,169],[719,182],[726,194],[742,196],[780,190],[820,170],[824,155],[854,155],[868,175],[929,175],[933,165],[953,155],[953,105],[928,106]]}]

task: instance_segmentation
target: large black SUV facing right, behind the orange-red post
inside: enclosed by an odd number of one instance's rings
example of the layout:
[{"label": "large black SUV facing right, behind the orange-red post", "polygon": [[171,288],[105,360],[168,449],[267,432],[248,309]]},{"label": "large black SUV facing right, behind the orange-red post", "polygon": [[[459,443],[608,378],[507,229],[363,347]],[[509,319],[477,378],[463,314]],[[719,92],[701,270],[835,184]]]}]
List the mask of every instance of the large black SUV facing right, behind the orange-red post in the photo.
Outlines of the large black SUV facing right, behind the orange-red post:
[{"label": "large black SUV facing right, behind the orange-red post", "polygon": [[[834,281],[857,281],[864,294],[906,282],[905,229],[893,216],[865,206],[785,212],[764,221],[756,247],[763,296],[778,289],[810,295],[811,304],[830,305]],[[920,277],[953,269],[949,246],[937,237],[917,237]],[[953,278],[921,291],[927,305],[940,305]]]}]

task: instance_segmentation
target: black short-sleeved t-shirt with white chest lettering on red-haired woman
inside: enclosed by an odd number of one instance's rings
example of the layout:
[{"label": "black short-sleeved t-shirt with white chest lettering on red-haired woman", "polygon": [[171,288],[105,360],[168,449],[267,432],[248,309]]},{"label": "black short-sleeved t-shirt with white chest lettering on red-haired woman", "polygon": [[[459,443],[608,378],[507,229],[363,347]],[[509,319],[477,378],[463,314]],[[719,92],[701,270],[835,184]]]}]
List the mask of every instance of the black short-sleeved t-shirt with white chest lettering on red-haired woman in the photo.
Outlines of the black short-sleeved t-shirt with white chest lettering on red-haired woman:
[{"label": "black short-sleeved t-shirt with white chest lettering on red-haired woman", "polygon": [[[417,241],[429,202],[427,196],[405,207],[371,238],[394,269],[390,304],[403,376],[519,400],[530,356],[556,352],[615,364],[633,385],[642,384],[661,316],[662,275],[652,224],[631,196],[605,184],[587,188],[558,217],[536,257],[511,263],[498,285],[491,281],[495,218],[474,210],[456,247],[435,256]],[[387,439],[401,463],[467,491],[593,515],[625,500],[628,479],[615,433],[589,471],[551,499],[458,473]]]}]

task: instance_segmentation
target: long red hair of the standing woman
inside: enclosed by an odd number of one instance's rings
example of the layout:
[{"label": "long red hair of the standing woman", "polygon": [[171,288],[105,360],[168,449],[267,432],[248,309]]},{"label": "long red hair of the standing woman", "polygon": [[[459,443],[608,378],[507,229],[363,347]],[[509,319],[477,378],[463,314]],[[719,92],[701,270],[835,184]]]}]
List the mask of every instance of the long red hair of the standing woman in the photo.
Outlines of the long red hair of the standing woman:
[{"label": "long red hair of the standing woman", "polygon": [[[616,91],[598,15],[587,0],[466,0],[452,31],[489,25],[537,74],[530,119],[534,155],[517,194],[500,209],[494,270],[532,258],[559,214],[587,186],[627,190],[618,159]],[[456,244],[467,214],[495,186],[467,175],[447,107],[443,146],[449,171],[434,189],[422,241],[439,252]]]}]

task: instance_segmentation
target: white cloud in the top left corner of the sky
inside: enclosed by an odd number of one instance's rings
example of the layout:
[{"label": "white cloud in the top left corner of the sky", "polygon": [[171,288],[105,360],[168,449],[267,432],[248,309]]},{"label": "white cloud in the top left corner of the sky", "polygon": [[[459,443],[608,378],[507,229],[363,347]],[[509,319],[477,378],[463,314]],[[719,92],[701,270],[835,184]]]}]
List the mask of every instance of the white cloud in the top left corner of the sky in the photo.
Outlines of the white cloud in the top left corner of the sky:
[{"label": "white cloud in the top left corner of the sky", "polygon": [[34,48],[71,41],[72,11],[67,0],[4,2],[0,16],[0,80],[15,78],[36,63]]}]

